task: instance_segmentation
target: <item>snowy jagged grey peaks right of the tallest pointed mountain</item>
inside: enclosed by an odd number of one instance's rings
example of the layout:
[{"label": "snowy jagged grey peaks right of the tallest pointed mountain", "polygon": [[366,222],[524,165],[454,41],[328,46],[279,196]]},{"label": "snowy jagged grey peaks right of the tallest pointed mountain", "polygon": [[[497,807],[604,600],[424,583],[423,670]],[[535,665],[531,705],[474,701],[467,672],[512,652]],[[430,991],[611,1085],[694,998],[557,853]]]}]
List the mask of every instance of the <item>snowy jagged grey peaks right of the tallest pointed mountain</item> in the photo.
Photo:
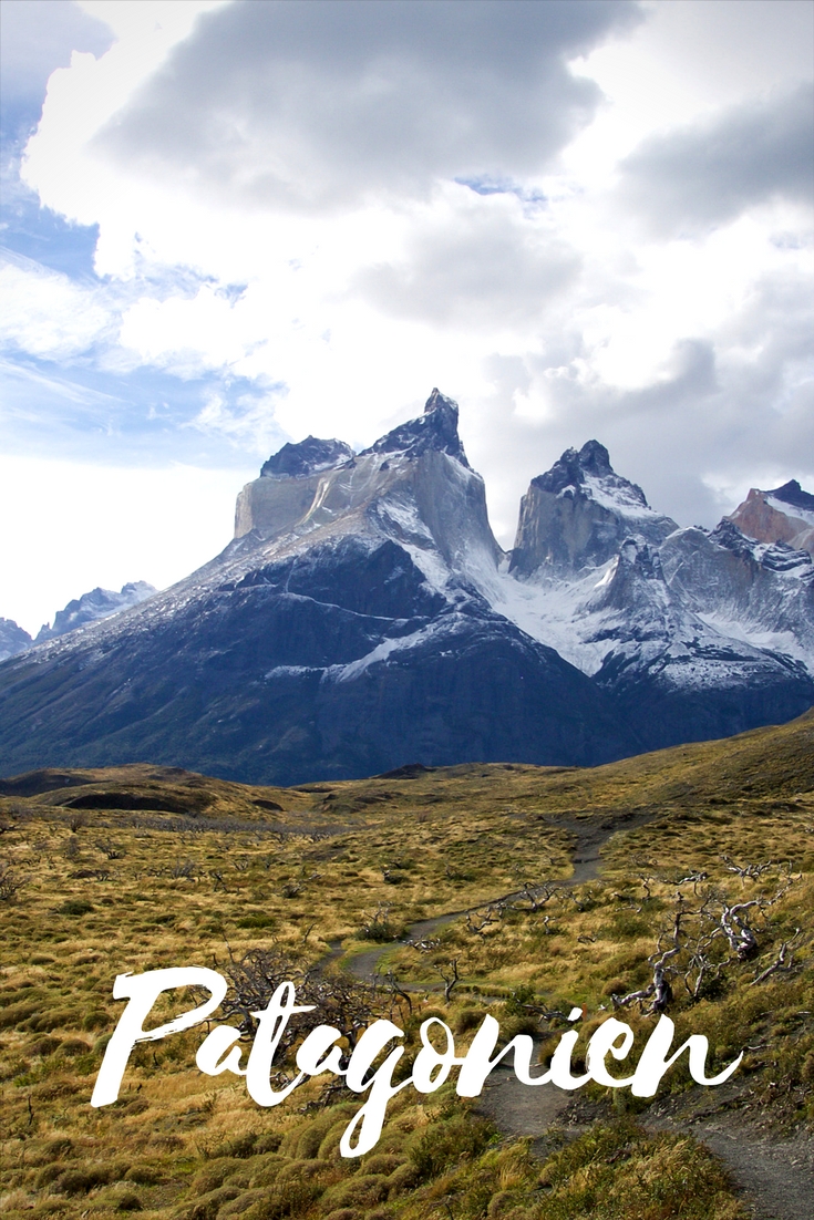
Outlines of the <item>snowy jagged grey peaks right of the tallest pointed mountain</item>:
[{"label": "snowy jagged grey peaks right of the tallest pointed mountain", "polygon": [[648,748],[783,721],[814,695],[814,565],[730,520],[680,529],[588,442],[532,481],[494,604],[593,677]]}]

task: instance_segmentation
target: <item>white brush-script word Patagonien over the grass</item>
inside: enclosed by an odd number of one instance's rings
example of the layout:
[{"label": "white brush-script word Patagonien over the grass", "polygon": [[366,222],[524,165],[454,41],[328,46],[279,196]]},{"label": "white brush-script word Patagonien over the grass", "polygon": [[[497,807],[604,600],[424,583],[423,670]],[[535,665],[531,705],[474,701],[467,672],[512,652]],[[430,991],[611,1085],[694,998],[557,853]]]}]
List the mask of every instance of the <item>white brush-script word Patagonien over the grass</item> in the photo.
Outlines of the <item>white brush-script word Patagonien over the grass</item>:
[{"label": "white brush-script word Patagonien over the grass", "polygon": [[[188,1009],[172,1021],[145,1030],[144,1021],[150,1014],[159,996],[176,987],[204,987],[210,998],[196,1008]],[[90,1098],[90,1104],[110,1105],[118,1097],[122,1077],[131,1052],[138,1042],[156,1042],[160,1038],[179,1033],[200,1025],[218,1008],[227,992],[227,982],[216,970],[206,966],[178,966],[166,970],[148,970],[142,975],[118,975],[113,985],[113,999],[127,999],[128,1004],[105,1049],[105,1057],[99,1069],[99,1076]],[[639,1055],[636,1070],[631,1076],[618,1080],[608,1071],[605,1060],[610,1054],[614,1059],[625,1059],[633,1046],[633,1031],[624,1021],[608,1017],[594,1031],[588,1043],[586,1071],[580,1076],[571,1075],[571,1053],[578,1032],[569,1030],[559,1039],[546,1071],[532,1076],[532,1055],[535,1044],[527,1033],[520,1033],[495,1054],[500,1027],[493,1016],[486,1015],[472,1042],[463,1057],[455,1053],[453,1032],[444,1021],[436,1016],[428,1017],[421,1025],[421,1049],[412,1064],[412,1072],[398,1083],[393,1072],[404,1054],[403,1046],[394,1046],[384,1060],[373,1069],[376,1059],[391,1043],[398,1043],[404,1031],[393,1021],[378,1020],[367,1026],[350,1055],[340,1047],[342,1033],[334,1026],[320,1025],[300,1043],[295,1054],[298,1075],[283,1088],[271,1087],[271,1075],[275,1055],[288,1022],[298,1013],[309,1013],[314,1005],[297,1004],[294,985],[283,982],[277,987],[266,1008],[253,1013],[259,1025],[251,1043],[245,1068],[240,1066],[240,1050],[236,1043],[242,1037],[240,1030],[232,1025],[216,1025],[204,1038],[198,1049],[195,1063],[209,1076],[221,1072],[233,1072],[244,1076],[249,1096],[258,1105],[279,1105],[309,1076],[332,1072],[343,1076],[344,1082],[354,1093],[367,1093],[367,1098],[348,1124],[339,1152],[343,1157],[361,1157],[376,1146],[382,1132],[387,1105],[403,1088],[411,1085],[419,1093],[432,1093],[448,1078],[453,1068],[458,1068],[458,1096],[478,1097],[489,1072],[513,1054],[515,1076],[524,1085],[537,1088],[541,1085],[554,1085],[556,1088],[575,1089],[587,1085],[589,1080],[609,1088],[627,1088],[635,1097],[653,1097],[666,1070],[676,1061],[683,1050],[690,1054],[690,1074],[698,1085],[722,1085],[737,1069],[743,1053],[724,1069],[718,1076],[704,1075],[709,1043],[701,1033],[692,1033],[677,1050],[670,1054],[675,1026],[661,1015]],[[582,1009],[575,1008],[570,1020],[582,1016]],[[443,1049],[437,1049],[430,1039],[430,1031],[437,1026]],[[347,1064],[343,1065],[343,1059]],[[355,1138],[354,1138],[355,1137]]]}]

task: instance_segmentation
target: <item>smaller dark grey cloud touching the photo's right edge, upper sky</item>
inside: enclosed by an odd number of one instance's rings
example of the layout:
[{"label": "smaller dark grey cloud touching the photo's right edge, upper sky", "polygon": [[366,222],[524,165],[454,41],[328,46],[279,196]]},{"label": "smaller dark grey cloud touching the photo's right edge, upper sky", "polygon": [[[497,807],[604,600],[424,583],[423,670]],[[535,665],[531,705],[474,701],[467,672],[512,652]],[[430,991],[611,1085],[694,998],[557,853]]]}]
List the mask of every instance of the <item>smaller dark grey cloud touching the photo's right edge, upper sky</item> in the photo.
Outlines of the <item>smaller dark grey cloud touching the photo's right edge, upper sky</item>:
[{"label": "smaller dark grey cloud touching the photo's right edge, upper sky", "polygon": [[814,89],[652,135],[621,166],[621,196],[657,233],[697,233],[755,204],[814,196]]}]

